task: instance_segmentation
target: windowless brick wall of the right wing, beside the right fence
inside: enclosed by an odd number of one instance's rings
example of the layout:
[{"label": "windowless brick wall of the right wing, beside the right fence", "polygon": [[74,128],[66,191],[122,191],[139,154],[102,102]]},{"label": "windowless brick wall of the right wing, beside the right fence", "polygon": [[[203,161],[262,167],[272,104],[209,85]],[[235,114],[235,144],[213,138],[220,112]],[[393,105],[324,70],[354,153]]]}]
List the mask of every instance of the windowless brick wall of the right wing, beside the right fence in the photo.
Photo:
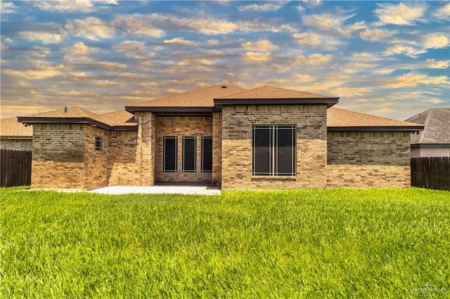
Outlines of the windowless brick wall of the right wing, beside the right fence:
[{"label": "windowless brick wall of the right wing, beside the right fence", "polygon": [[328,132],[328,187],[409,187],[409,132]]}]

